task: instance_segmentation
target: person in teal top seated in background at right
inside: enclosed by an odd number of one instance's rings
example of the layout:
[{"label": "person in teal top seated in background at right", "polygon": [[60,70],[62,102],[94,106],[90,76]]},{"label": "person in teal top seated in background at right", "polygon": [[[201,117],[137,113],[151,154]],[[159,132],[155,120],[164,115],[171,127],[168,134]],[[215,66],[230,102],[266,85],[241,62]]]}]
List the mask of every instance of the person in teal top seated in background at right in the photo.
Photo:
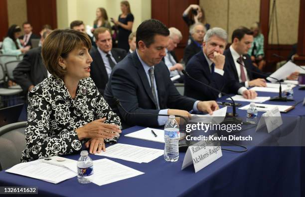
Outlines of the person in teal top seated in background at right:
[{"label": "person in teal top seated in background at right", "polygon": [[254,41],[252,42],[248,54],[251,56],[253,65],[258,67],[260,70],[263,70],[266,65],[266,61],[264,60],[264,35],[261,33],[258,22],[252,24],[250,29],[253,31]]}]

